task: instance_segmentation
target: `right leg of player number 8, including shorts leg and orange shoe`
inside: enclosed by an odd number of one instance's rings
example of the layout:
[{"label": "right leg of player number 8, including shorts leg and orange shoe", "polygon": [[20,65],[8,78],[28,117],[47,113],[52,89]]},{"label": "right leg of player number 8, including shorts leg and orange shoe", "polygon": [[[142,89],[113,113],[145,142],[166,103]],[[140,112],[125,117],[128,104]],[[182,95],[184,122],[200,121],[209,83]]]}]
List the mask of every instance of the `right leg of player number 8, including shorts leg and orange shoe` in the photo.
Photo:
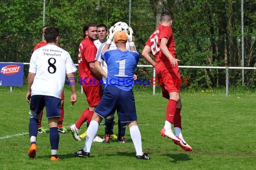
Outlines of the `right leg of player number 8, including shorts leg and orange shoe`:
[{"label": "right leg of player number 8, including shorts leg and orange shoe", "polygon": [[45,109],[50,129],[51,161],[58,161],[59,132],[58,119],[60,117],[61,99],[52,96],[45,96]]}]

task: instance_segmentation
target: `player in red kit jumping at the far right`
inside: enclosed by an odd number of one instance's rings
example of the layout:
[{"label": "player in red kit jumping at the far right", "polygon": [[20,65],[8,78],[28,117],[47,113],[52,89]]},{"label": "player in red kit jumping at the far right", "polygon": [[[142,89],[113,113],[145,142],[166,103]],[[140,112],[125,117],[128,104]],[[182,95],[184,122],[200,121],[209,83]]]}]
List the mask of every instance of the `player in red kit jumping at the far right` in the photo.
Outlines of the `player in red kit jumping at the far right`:
[{"label": "player in red kit jumping at the far right", "polygon": [[[172,15],[168,12],[161,14],[160,26],[156,28],[153,34],[146,42],[142,51],[142,56],[155,67],[156,75],[159,80],[177,80],[180,79],[178,68],[179,59],[176,58],[175,40],[172,34]],[[150,51],[154,55],[154,60],[150,57]],[[181,97],[180,83],[165,81],[162,83],[162,94],[169,100],[166,108],[166,120],[162,136],[167,136],[175,144],[181,146],[185,151],[192,151],[181,134]],[[174,125],[175,135],[172,132]]]}]

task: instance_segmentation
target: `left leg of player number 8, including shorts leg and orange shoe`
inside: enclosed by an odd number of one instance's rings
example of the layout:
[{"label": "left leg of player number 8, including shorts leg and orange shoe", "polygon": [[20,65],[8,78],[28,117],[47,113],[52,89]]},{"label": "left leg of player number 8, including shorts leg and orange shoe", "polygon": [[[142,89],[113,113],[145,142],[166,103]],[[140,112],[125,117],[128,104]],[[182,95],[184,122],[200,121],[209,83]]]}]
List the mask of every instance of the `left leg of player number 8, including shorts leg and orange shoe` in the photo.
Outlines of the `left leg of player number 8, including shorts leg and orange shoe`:
[{"label": "left leg of player number 8, including shorts leg and orange shoe", "polygon": [[30,137],[30,149],[28,151],[28,156],[35,158],[36,156],[36,137],[38,133],[38,121],[40,118],[40,112],[44,108],[44,96],[34,95],[31,96],[30,103],[30,119],[29,119],[29,137]]}]

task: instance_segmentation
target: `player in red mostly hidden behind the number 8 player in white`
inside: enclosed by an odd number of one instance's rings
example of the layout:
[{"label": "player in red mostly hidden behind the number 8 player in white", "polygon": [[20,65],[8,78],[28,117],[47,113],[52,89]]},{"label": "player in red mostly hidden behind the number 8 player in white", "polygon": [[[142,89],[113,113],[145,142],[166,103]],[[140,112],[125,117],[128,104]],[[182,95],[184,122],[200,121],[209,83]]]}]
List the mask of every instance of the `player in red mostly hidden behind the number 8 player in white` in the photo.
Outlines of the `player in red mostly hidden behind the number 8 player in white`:
[{"label": "player in red mostly hidden behind the number 8 player in white", "polygon": [[[42,29],[42,34],[44,36],[44,30],[46,28],[49,28],[50,26],[44,26],[43,29]],[[41,41],[40,43],[37,43],[33,49],[33,52],[35,50],[37,50],[38,48],[40,47],[44,47],[46,46],[47,43],[45,40]],[[58,44],[57,45],[58,47],[60,47],[60,45]],[[45,132],[44,128],[42,127],[41,125],[41,122],[42,122],[42,117],[43,117],[43,113],[44,113],[44,110],[41,110],[41,114],[40,114],[40,119],[39,119],[39,122],[38,122],[38,133],[43,133]],[[62,133],[66,133],[67,130],[65,127],[63,127],[63,120],[64,120],[64,91],[62,91],[62,97],[61,97],[61,116],[59,118],[59,121],[58,121],[58,131],[59,132],[62,132]]]}]

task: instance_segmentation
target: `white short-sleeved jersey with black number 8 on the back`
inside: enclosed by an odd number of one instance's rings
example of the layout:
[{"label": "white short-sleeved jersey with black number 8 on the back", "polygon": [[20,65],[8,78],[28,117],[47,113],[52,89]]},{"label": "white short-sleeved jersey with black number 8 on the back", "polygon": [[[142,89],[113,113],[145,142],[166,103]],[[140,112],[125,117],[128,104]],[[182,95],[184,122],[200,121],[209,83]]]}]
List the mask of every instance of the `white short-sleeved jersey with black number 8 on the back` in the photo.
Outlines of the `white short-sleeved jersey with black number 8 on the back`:
[{"label": "white short-sleeved jersey with black number 8 on the back", "polygon": [[70,54],[56,45],[46,45],[31,56],[29,72],[35,73],[31,96],[61,98],[66,74],[77,71]]}]

